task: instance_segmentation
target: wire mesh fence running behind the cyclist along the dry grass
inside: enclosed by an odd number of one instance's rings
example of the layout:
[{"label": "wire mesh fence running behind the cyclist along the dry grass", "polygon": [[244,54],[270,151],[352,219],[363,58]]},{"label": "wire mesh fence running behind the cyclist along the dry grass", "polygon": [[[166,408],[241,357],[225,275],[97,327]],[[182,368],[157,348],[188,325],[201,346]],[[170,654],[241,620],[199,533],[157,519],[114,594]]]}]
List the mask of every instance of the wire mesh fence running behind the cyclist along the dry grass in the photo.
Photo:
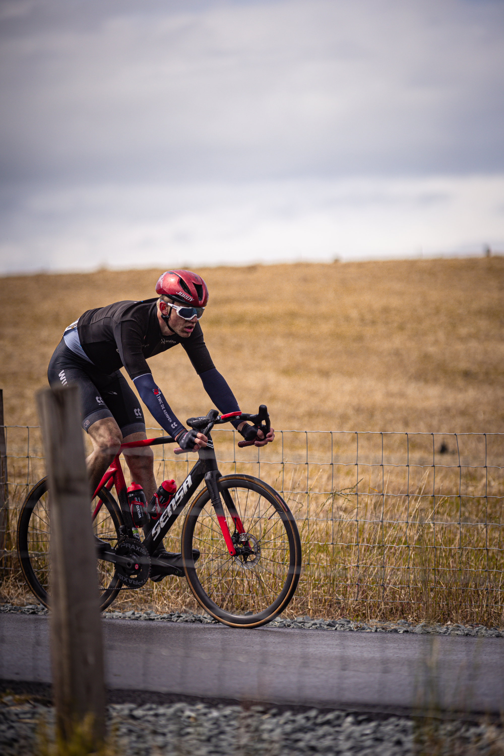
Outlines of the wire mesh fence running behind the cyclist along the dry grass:
[{"label": "wire mesh fence running behind the cyclist along the dry grass", "polygon": [[[45,460],[39,427],[5,426],[5,435],[7,595],[23,590],[17,516]],[[295,516],[303,570],[288,614],[502,624],[504,434],[280,431],[260,449],[238,448],[233,429],[212,438],[223,475],[263,479]],[[181,482],[196,460],[153,451],[158,482]],[[170,531],[170,550],[179,532]],[[156,605],[187,606],[183,582],[143,590]]]}]

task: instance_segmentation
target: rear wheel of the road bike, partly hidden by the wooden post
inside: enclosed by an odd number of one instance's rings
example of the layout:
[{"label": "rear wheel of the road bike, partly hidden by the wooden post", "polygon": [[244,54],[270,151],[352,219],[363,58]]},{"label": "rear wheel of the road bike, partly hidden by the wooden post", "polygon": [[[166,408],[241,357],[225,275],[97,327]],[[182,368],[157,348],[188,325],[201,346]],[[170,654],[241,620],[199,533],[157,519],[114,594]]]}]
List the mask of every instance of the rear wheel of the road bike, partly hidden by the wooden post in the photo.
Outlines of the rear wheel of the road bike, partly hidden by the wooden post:
[{"label": "rear wheel of the road bike, partly hidden by the wooden post", "polygon": [[[111,541],[115,546],[119,536],[119,527],[122,525],[121,510],[106,488],[102,488],[99,495],[104,504],[94,520],[94,534]],[[104,514],[104,507],[107,514]],[[47,607],[51,600],[49,543],[48,479],[42,478],[29,491],[21,507],[17,520],[16,545],[26,583],[40,603]],[[97,566],[100,611],[103,612],[116,599],[122,582],[117,577],[115,567],[111,562],[97,559]]]}]

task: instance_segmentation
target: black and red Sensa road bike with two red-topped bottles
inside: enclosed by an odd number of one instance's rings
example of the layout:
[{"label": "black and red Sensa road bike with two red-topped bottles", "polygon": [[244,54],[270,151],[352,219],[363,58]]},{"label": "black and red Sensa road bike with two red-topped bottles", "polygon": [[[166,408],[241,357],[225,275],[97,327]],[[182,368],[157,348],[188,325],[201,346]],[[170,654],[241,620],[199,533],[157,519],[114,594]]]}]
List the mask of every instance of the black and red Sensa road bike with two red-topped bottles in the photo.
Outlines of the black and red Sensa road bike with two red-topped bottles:
[{"label": "black and red Sensa road bike with two red-topped bottles", "polygon": [[[146,584],[151,569],[153,574],[164,570],[167,576],[185,576],[200,606],[230,627],[259,627],[286,609],[301,572],[298,528],[289,507],[270,485],[252,476],[222,476],[218,471],[210,432],[215,425],[237,419],[251,421],[264,436],[270,430],[264,404],[258,414],[220,415],[211,410],[205,417],[187,420],[190,428],[207,436],[208,444],[198,451],[193,469],[143,541],[131,519],[119,455],[128,448],[172,444],[174,439],[162,436],[121,445],[91,500],[94,534],[110,544],[97,558],[102,611],[119,590]],[[113,486],[117,499],[111,493]],[[153,552],[187,504],[181,531],[183,568],[167,567]],[[21,508],[17,553],[26,582],[44,606],[50,603],[49,541],[48,480],[43,478]]]}]

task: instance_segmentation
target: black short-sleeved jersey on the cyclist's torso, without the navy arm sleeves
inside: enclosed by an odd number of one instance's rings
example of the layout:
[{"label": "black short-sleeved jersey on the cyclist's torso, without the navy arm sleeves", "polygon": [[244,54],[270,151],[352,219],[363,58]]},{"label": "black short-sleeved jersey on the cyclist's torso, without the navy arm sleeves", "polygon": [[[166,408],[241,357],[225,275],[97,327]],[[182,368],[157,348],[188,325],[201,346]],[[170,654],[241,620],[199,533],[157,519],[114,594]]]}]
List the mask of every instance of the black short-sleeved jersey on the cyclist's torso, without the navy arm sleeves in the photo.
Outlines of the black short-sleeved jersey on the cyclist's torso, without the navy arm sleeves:
[{"label": "black short-sleeved jersey on the cyclist's torso, without the navy arm sleeves", "polygon": [[190,336],[164,336],[157,319],[159,297],[141,302],[114,302],[88,310],[77,321],[79,342],[91,362],[104,373],[125,367],[131,379],[150,373],[146,359],[181,344],[198,375],[214,364],[199,323]]}]

